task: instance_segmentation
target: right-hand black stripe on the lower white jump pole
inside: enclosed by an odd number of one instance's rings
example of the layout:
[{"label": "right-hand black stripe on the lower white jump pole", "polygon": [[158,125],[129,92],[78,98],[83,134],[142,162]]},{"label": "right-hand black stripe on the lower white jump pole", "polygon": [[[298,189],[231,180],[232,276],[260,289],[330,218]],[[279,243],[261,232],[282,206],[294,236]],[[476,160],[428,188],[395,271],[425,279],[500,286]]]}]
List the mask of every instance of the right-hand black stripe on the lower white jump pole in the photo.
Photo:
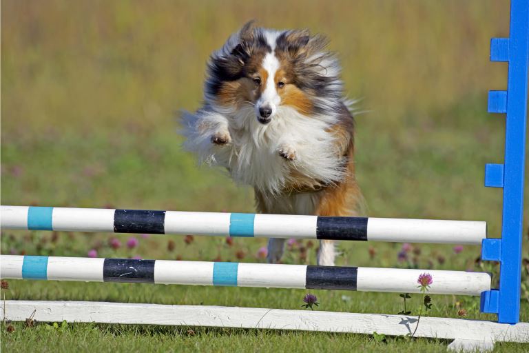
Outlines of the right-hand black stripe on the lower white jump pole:
[{"label": "right-hand black stripe on the lower white jump pole", "polygon": [[311,290],[356,290],[358,268],[307,266],[305,288]]}]

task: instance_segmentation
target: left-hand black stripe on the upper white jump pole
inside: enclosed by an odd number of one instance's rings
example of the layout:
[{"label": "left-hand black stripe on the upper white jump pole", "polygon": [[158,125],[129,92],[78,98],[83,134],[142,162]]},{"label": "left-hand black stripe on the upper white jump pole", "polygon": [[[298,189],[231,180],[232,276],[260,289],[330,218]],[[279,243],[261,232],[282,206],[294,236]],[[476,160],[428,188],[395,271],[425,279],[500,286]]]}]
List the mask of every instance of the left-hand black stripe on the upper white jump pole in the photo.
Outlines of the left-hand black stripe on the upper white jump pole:
[{"label": "left-hand black stripe on the upper white jump pole", "polygon": [[114,232],[116,233],[165,233],[165,211],[116,210]]}]

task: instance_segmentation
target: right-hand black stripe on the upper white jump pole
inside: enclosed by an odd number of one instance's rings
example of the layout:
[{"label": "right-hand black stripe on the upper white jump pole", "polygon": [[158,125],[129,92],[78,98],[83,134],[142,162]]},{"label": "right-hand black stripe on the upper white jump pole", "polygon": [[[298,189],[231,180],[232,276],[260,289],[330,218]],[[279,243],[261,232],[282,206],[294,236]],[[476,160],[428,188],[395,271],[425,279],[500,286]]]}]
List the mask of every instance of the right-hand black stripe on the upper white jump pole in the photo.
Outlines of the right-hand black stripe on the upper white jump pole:
[{"label": "right-hand black stripe on the upper white jump pole", "polygon": [[318,216],[316,237],[318,239],[366,241],[367,218]]}]

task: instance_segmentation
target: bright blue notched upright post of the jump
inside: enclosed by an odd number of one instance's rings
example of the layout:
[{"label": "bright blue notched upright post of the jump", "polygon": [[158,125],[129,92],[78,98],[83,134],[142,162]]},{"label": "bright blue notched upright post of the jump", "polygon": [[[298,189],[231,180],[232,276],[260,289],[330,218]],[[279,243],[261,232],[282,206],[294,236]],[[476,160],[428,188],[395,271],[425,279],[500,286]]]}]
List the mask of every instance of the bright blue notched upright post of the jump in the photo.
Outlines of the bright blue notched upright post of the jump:
[{"label": "bright blue notched upright post of the jump", "polygon": [[492,38],[490,60],[509,64],[506,91],[490,91],[488,112],[507,113],[504,164],[487,164],[485,186],[504,188],[501,239],[483,239],[481,259],[499,261],[499,288],[481,294],[481,312],[499,323],[520,317],[523,169],[526,149],[529,61],[529,3],[511,0],[509,38]]}]

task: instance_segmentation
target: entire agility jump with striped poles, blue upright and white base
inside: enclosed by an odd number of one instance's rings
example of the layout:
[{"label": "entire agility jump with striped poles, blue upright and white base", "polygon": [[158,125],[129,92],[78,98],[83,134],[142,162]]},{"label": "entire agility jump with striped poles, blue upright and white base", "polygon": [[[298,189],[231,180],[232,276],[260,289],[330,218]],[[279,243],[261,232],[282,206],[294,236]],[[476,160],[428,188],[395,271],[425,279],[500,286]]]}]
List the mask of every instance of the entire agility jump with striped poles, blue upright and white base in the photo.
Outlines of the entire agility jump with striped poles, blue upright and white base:
[{"label": "entire agility jump with striped poles, blue upright and white base", "polygon": [[[510,37],[492,39],[490,59],[509,63],[507,90],[490,91],[488,97],[488,112],[506,113],[504,163],[487,164],[485,168],[485,185],[503,188],[504,191],[499,239],[486,238],[484,222],[21,206],[1,208],[1,228],[481,243],[481,260],[499,261],[501,264],[499,288],[490,288],[489,274],[428,270],[435,279],[431,293],[480,295],[481,312],[497,314],[498,323],[425,317],[415,336],[454,339],[449,347],[457,350],[486,350],[496,341],[529,342],[529,323],[518,322],[529,61],[529,6],[526,0],[511,0]],[[420,272],[379,268],[6,255],[1,256],[0,264],[1,276],[15,279],[381,292],[414,292],[414,286],[416,291],[415,279]],[[376,283],[371,277],[377,279]],[[85,301],[5,301],[0,307],[0,313],[5,319],[14,321],[25,321],[33,313],[34,319],[38,321],[202,325],[366,334],[378,332],[388,335],[410,334],[411,325],[415,327],[417,322],[417,316],[406,315]]]}]

